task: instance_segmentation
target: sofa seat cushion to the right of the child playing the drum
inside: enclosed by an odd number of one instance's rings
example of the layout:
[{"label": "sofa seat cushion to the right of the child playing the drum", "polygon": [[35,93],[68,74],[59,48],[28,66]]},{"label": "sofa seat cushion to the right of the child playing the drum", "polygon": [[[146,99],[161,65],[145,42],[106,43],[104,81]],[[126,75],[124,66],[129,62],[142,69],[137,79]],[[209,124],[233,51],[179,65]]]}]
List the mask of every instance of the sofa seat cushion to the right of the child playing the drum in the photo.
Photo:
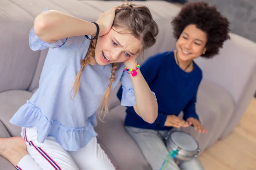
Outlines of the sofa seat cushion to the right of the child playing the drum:
[{"label": "sofa seat cushion to the right of the child playing the drum", "polygon": [[234,102],[228,91],[205,79],[198,88],[197,101],[196,111],[208,133],[198,133],[192,127],[182,128],[182,130],[192,134],[200,144],[201,150],[204,150],[220,137],[233,114]]}]

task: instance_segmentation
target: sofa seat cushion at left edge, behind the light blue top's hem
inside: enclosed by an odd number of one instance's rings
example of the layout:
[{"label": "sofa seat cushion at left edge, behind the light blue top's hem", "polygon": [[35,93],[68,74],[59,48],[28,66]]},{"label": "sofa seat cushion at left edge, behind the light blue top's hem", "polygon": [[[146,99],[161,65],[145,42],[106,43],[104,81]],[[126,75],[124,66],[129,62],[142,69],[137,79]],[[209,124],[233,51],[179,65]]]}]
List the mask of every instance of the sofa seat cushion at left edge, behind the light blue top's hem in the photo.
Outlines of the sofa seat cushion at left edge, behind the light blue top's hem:
[{"label": "sofa seat cushion at left edge, behind the light blue top's hem", "polygon": [[9,120],[31,96],[32,93],[21,90],[0,93],[0,121],[3,122],[11,136],[20,136],[21,127],[12,125]]}]

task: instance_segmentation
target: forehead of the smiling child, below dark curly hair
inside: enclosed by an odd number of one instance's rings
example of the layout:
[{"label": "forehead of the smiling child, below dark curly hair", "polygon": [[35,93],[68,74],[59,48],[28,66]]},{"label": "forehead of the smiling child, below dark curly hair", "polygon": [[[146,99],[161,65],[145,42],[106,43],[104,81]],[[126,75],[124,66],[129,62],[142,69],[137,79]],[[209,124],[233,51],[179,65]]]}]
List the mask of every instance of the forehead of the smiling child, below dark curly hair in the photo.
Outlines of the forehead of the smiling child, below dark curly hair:
[{"label": "forehead of the smiling child, below dark curly hair", "polygon": [[189,37],[191,38],[207,40],[207,33],[197,28],[194,24],[186,26],[186,28],[183,30],[183,33],[189,34]]}]

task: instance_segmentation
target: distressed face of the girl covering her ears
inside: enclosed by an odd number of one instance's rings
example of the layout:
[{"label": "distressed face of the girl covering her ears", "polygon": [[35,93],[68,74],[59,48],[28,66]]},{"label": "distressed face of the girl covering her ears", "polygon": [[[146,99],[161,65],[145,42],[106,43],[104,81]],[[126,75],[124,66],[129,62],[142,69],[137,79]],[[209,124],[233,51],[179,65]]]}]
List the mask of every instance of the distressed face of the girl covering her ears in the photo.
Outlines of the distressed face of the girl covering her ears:
[{"label": "distressed face of the girl covering her ears", "polygon": [[130,33],[120,33],[122,31],[122,28],[111,28],[108,34],[98,38],[95,58],[99,65],[124,62],[139,54],[140,40]]}]

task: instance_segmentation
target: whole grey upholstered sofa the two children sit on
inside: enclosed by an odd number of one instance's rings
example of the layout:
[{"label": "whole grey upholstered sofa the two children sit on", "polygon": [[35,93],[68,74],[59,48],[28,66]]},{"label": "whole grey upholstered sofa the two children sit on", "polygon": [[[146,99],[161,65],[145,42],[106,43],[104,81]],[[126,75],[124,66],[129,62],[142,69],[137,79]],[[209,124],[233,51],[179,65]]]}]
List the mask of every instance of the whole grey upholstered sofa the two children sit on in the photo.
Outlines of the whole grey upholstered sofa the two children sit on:
[{"label": "whole grey upholstered sofa the two children sit on", "polygon": [[[32,51],[29,48],[28,36],[35,16],[49,8],[96,21],[100,13],[121,3],[98,0],[0,1],[0,137],[20,136],[20,127],[11,125],[9,119],[38,87],[47,50]],[[170,22],[180,8],[166,1],[135,3],[148,6],[160,28],[157,43],[146,51],[145,58],[174,50]],[[256,43],[236,34],[230,36],[231,40],[224,44],[218,56],[195,61],[204,73],[196,109],[209,133],[199,134],[192,128],[182,130],[192,134],[202,150],[232,132],[256,90]],[[139,59],[139,62],[143,60]],[[118,88],[111,93],[110,113],[105,122],[98,121],[99,142],[118,170],[150,170],[124,129],[125,108],[116,98]],[[15,170],[15,167],[0,157],[0,170]]]}]

